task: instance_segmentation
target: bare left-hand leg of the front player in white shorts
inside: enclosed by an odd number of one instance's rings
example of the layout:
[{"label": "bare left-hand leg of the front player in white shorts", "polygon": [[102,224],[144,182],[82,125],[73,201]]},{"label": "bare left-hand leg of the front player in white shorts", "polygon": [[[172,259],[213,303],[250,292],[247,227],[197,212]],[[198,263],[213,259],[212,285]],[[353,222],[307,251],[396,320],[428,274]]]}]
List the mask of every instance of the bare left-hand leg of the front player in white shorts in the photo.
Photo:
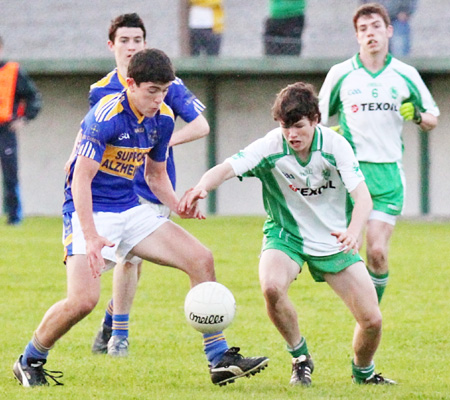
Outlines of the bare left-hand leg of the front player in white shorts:
[{"label": "bare left-hand leg of the front player in white shorts", "polygon": [[86,317],[100,296],[100,279],[93,278],[86,256],[67,259],[67,298],[54,304],[45,313],[36,336],[39,342],[52,347],[72,326]]}]

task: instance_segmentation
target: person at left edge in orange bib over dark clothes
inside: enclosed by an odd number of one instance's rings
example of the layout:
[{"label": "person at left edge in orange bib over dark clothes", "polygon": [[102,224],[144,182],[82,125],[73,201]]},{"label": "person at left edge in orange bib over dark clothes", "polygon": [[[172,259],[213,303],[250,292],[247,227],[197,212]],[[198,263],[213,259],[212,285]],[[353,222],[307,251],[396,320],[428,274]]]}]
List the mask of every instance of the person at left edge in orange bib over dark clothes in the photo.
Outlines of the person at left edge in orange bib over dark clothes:
[{"label": "person at left edge in orange bib over dark clothes", "polygon": [[41,109],[41,95],[16,62],[1,60],[0,37],[0,159],[3,171],[3,209],[8,225],[22,221],[16,133]]}]

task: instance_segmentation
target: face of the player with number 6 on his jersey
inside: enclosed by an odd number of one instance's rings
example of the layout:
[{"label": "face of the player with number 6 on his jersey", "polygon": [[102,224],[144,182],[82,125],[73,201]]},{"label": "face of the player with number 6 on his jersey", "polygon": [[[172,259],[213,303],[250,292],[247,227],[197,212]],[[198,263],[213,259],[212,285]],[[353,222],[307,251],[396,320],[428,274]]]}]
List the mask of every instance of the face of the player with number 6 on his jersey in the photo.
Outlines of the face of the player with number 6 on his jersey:
[{"label": "face of the player with number 6 on his jersey", "polygon": [[379,14],[361,16],[356,22],[356,39],[361,52],[387,53],[392,33],[392,26],[386,26]]}]

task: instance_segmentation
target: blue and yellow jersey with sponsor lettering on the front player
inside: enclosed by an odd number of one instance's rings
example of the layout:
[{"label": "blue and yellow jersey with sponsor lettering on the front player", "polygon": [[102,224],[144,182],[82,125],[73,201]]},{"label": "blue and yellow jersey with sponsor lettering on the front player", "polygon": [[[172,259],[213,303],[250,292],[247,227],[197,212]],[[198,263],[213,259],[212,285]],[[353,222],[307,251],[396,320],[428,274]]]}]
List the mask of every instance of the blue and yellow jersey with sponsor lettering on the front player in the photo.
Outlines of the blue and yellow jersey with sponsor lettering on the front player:
[{"label": "blue and yellow jersey with sponsor lettering on the front player", "polygon": [[[166,106],[162,108],[170,110]],[[100,164],[92,181],[94,212],[122,212],[137,206],[134,180],[145,156],[148,154],[158,162],[167,158],[173,117],[166,114],[170,112],[145,118],[130,103],[126,90],[103,97],[91,108],[82,122],[82,139],[66,177],[63,212],[75,211],[71,185],[74,166],[80,156]],[[161,122],[165,123],[165,129],[158,126]]]}]

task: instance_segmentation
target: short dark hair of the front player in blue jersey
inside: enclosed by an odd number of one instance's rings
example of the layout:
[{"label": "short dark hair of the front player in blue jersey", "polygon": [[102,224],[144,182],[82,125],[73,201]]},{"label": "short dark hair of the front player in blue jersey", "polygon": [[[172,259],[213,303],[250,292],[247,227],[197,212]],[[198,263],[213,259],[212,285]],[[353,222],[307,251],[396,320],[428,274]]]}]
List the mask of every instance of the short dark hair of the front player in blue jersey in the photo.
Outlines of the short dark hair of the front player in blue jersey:
[{"label": "short dark hair of the front player in blue jersey", "polygon": [[142,82],[168,83],[175,80],[170,58],[161,50],[145,49],[131,57],[127,76],[139,86]]}]

